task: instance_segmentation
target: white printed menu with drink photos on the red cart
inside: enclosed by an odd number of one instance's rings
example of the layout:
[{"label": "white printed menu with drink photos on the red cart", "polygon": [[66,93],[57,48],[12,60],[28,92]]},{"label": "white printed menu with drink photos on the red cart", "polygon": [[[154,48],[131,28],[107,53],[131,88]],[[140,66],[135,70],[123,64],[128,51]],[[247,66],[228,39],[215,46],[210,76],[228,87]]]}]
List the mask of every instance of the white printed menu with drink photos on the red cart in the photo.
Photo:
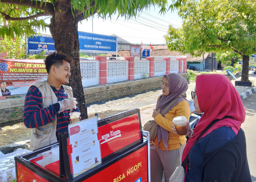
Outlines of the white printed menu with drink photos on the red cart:
[{"label": "white printed menu with drink photos on the red cart", "polygon": [[69,124],[69,145],[73,178],[101,164],[101,149],[97,137],[97,117]]}]

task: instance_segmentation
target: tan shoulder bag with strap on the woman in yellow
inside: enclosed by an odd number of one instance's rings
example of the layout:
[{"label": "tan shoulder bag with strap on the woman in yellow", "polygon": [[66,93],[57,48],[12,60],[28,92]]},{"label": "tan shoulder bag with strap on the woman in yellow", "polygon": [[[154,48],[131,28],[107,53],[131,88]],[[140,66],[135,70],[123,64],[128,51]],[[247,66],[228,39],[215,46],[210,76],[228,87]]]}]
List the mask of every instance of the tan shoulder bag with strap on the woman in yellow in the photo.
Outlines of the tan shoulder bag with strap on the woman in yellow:
[{"label": "tan shoulder bag with strap on the woman in yellow", "polygon": [[[180,98],[181,96],[179,96],[178,98]],[[170,102],[170,104],[168,104],[168,106],[165,108],[165,110],[163,110],[163,112],[161,112],[162,115],[165,114],[165,112],[172,106],[172,104],[178,99],[174,99],[172,102]],[[157,137],[157,122],[155,122],[155,120],[149,120],[148,122],[146,122],[143,126],[143,130],[145,131],[149,131],[150,133],[150,141],[153,141],[155,139],[155,137]]]}]

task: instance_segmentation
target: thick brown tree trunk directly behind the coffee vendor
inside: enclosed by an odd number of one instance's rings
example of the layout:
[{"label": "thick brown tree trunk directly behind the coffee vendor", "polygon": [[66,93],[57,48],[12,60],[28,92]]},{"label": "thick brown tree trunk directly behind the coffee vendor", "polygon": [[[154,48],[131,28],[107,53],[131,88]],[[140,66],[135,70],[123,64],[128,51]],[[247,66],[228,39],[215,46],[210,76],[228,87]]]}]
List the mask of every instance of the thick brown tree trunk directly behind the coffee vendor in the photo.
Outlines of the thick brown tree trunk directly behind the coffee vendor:
[{"label": "thick brown tree trunk directly behind the coffee vendor", "polygon": [[69,86],[72,87],[74,97],[77,99],[77,106],[80,109],[82,119],[87,119],[87,107],[80,71],[78,20],[74,18],[71,11],[60,12],[57,10],[51,18],[49,28],[56,51],[66,54],[72,60],[70,64],[71,76],[69,77]]}]

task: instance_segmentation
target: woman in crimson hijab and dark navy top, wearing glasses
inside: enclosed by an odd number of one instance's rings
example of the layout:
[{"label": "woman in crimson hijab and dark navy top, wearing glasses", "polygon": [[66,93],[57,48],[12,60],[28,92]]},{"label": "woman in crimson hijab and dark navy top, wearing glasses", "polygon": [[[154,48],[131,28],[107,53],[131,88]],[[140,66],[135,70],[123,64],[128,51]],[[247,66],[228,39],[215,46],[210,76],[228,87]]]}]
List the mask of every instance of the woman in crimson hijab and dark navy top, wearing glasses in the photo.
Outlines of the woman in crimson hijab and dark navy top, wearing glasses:
[{"label": "woman in crimson hijab and dark navy top, wearing glasses", "polygon": [[[192,98],[196,112],[204,114],[182,154],[182,161],[189,156],[185,181],[251,181],[241,128],[245,109],[240,95],[221,74],[197,76],[195,92]],[[199,138],[216,119],[219,121]]]}]

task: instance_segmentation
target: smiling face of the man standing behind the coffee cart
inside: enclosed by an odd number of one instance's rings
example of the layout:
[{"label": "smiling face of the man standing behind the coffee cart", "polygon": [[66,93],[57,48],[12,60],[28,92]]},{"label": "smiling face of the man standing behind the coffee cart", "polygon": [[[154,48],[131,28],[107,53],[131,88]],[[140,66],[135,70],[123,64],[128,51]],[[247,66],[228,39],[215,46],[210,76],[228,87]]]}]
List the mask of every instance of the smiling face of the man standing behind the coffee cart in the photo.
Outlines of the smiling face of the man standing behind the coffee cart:
[{"label": "smiling face of the man standing behind the coffee cart", "polygon": [[63,60],[63,64],[55,68],[55,79],[59,84],[68,84],[70,73],[70,65],[67,61]]}]

